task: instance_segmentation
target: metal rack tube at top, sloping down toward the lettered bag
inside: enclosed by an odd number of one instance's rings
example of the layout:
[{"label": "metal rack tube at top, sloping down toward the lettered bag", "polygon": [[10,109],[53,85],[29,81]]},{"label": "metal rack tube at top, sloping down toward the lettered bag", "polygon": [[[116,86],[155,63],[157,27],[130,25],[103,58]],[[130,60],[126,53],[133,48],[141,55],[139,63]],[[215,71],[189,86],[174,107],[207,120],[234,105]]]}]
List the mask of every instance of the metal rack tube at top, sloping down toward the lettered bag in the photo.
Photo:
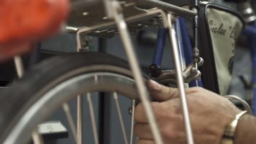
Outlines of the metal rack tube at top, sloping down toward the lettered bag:
[{"label": "metal rack tube at top, sloping down toward the lettered bag", "polygon": [[139,4],[147,4],[147,5],[153,5],[154,7],[158,7],[159,9],[168,10],[170,12],[176,13],[178,16],[181,17],[194,17],[196,16],[196,12],[178,7],[177,5],[173,5],[170,3],[166,3],[159,0],[137,0],[137,3]]}]

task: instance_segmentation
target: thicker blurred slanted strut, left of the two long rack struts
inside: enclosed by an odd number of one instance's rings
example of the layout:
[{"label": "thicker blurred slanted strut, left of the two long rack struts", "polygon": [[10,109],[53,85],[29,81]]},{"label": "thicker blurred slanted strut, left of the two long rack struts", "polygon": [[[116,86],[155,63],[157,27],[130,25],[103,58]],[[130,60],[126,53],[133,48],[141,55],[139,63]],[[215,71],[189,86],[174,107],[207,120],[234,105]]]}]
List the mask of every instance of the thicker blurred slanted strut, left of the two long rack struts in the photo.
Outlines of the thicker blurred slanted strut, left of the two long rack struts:
[{"label": "thicker blurred slanted strut, left of the two long rack struts", "polygon": [[124,20],[123,13],[120,13],[121,7],[118,1],[112,1],[112,10],[114,21],[117,23],[117,27],[120,32],[120,37],[123,41],[125,52],[129,61],[129,65],[136,81],[139,97],[141,98],[144,110],[149,121],[150,129],[152,130],[154,141],[157,144],[163,144],[162,137],[160,135],[160,131],[158,129],[158,125],[156,123],[156,119],[153,113],[153,109],[149,101],[148,92],[143,81],[141,69],[139,68],[138,60],[133,49],[127,25]]}]

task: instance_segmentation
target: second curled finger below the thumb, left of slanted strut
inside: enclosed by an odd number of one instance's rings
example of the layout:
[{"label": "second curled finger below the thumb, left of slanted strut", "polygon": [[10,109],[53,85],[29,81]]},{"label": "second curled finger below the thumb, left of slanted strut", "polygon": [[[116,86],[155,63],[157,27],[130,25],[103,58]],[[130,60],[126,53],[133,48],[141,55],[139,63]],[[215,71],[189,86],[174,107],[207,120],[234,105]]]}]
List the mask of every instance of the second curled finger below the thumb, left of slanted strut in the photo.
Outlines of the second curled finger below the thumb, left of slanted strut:
[{"label": "second curled finger below the thumb, left of slanted strut", "polygon": [[148,123],[137,123],[135,125],[135,134],[140,139],[153,140],[153,135]]}]

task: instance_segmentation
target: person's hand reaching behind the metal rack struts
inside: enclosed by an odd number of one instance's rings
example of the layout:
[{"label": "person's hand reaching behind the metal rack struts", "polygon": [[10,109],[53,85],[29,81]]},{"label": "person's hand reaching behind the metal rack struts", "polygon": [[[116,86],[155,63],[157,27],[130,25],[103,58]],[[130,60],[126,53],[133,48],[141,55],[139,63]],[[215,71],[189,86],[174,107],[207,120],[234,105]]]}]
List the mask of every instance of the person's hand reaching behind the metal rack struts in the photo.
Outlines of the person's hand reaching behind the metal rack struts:
[{"label": "person's hand reaching behind the metal rack struts", "polygon": [[[153,95],[153,110],[164,143],[187,143],[181,101],[177,88],[148,82]],[[194,141],[197,144],[220,143],[228,124],[240,112],[228,99],[200,87],[185,89]],[[137,144],[154,143],[143,105],[135,109]]]}]

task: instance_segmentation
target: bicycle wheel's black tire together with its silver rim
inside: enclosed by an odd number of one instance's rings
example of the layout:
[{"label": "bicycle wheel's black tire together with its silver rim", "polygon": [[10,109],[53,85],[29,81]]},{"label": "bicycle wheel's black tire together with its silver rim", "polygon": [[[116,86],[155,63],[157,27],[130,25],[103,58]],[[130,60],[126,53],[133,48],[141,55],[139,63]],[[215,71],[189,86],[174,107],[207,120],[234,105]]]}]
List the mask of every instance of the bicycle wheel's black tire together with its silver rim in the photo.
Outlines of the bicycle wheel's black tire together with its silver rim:
[{"label": "bicycle wheel's black tire together with its silver rim", "polygon": [[36,125],[63,103],[95,91],[139,100],[131,70],[123,59],[85,52],[38,64],[0,97],[0,143],[27,142]]}]

